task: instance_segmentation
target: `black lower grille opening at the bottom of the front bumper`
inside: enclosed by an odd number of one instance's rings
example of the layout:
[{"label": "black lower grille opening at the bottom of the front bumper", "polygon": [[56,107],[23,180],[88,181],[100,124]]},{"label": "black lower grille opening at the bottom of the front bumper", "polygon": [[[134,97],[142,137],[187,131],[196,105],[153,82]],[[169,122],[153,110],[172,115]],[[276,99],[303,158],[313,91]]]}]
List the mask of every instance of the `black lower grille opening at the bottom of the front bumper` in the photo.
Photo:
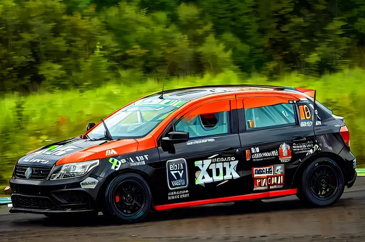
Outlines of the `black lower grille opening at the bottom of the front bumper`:
[{"label": "black lower grille opening at the bottom of the front bumper", "polygon": [[22,195],[11,196],[12,206],[14,208],[27,208],[27,209],[53,209],[56,205],[48,197],[28,197]]}]

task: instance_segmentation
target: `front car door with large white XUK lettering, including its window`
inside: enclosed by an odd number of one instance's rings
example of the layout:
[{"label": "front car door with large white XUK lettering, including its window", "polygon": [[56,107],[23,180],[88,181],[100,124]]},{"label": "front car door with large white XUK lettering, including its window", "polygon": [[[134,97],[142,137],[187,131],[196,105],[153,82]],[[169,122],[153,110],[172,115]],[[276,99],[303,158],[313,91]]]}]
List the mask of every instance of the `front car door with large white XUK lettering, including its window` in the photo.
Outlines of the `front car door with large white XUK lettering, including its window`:
[{"label": "front car door with large white XUK lettering, including its window", "polygon": [[237,109],[231,108],[236,104],[236,99],[202,104],[171,127],[170,131],[188,132],[189,140],[172,150],[159,147],[161,162],[166,164],[160,204],[240,193],[236,184],[242,177],[242,149]]}]

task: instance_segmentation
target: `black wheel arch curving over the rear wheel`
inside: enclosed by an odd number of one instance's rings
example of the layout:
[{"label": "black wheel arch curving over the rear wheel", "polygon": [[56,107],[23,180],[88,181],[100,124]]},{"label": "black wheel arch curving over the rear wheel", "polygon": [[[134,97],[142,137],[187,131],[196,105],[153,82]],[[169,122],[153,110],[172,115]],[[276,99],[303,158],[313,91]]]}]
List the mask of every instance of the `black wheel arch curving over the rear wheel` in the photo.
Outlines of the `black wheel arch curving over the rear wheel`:
[{"label": "black wheel arch curving over the rear wheel", "polygon": [[[331,160],[333,160],[341,169],[344,177],[345,177],[345,172],[344,172],[344,166],[345,166],[345,160],[343,158],[341,158],[341,156],[339,156],[336,153],[331,153],[331,152],[320,152],[317,154],[313,154],[311,155],[308,159],[306,159],[305,161],[303,161],[302,164],[299,165],[297,171],[294,174],[294,178],[293,178],[293,182],[291,185],[291,188],[298,188],[301,180],[302,180],[302,175],[304,172],[304,169],[314,160],[318,159],[318,158],[329,158]],[[345,185],[347,181],[345,179]]]}]

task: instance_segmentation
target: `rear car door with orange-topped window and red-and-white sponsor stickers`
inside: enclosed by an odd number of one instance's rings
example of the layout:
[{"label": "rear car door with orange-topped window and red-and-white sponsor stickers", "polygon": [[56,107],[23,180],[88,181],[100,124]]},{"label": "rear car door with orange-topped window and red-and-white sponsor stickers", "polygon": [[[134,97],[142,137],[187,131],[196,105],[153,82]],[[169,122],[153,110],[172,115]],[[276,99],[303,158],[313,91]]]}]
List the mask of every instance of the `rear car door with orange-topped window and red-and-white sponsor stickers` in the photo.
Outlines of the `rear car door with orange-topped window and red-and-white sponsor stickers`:
[{"label": "rear car door with orange-topped window and red-and-white sponsor stickers", "polygon": [[289,189],[305,156],[313,153],[313,110],[296,97],[239,98],[240,139],[253,192]]}]

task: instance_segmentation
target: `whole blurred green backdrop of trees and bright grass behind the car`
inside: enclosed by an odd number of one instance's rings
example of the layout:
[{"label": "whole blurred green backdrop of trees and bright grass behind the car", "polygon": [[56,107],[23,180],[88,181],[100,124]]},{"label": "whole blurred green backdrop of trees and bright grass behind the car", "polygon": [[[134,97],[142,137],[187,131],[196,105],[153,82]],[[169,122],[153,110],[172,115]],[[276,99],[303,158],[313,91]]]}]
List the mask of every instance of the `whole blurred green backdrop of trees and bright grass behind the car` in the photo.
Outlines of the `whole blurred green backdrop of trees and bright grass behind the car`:
[{"label": "whole blurred green backdrop of trees and bright grass behind the car", "polygon": [[315,88],[365,163],[364,46],[364,0],[0,0],[0,187],[162,80]]}]

